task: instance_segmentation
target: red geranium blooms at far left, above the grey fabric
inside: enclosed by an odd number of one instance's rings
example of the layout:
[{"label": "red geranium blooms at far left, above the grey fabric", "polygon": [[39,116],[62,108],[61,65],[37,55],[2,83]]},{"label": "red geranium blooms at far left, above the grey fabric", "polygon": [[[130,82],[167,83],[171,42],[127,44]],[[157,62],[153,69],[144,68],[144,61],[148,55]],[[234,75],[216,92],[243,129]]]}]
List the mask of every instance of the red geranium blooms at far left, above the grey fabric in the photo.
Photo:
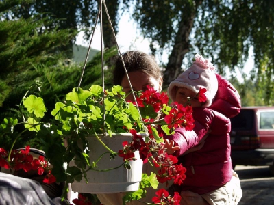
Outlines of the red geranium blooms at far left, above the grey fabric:
[{"label": "red geranium blooms at far left, above the grey fabric", "polygon": [[34,159],[32,154],[29,154],[29,149],[29,146],[26,146],[25,150],[12,150],[9,161],[8,152],[3,148],[0,148],[0,167],[5,169],[14,169],[16,171],[23,169],[25,172],[37,170],[39,175],[44,174],[46,170],[47,174],[43,182],[47,184],[55,182],[56,178],[51,174],[49,162],[45,161],[43,156],[39,156],[38,159]]}]

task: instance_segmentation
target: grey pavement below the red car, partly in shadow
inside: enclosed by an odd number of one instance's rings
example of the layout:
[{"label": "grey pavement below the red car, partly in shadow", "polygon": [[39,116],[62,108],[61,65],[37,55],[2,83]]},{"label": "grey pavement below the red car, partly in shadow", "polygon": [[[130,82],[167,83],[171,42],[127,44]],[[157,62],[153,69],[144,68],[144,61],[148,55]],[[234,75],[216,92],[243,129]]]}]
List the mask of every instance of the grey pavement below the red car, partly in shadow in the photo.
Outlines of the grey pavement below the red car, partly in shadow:
[{"label": "grey pavement below the red car, partly in shadow", "polygon": [[238,205],[274,205],[274,177],[269,167],[236,166],[242,200]]}]

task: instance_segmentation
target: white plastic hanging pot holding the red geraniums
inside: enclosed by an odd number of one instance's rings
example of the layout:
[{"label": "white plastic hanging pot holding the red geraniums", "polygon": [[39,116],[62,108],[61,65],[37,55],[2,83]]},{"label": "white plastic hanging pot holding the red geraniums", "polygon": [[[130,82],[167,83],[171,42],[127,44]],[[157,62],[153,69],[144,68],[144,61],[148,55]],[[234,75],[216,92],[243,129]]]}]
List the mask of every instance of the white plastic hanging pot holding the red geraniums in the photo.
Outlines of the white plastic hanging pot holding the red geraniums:
[{"label": "white plastic hanging pot holding the red geraniums", "polygon": [[[113,134],[110,138],[99,137],[101,141],[111,150],[118,152],[122,148],[124,141],[130,143],[132,134],[121,133]],[[110,160],[110,154],[103,155],[107,150],[102,147],[98,139],[87,137],[90,146],[90,161],[97,161],[101,156],[101,160],[97,163],[98,170],[90,170],[86,173],[86,180],[73,182],[72,190],[80,193],[119,193],[127,191],[136,191],[139,189],[139,182],[142,179],[142,160],[138,151],[134,152],[136,158],[134,161],[129,161],[130,169],[125,169],[123,166],[123,158],[119,157]],[[75,165],[72,161],[70,165]],[[96,169],[96,168],[95,168]],[[108,170],[107,172],[103,170]]]}]

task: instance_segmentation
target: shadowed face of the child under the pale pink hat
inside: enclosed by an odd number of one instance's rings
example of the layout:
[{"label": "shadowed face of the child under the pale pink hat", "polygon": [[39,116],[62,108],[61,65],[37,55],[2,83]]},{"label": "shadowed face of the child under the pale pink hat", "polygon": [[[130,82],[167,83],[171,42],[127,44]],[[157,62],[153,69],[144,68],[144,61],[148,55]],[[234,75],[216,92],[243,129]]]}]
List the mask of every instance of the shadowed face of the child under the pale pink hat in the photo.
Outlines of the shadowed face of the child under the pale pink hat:
[{"label": "shadowed face of the child under the pale pink hat", "polygon": [[203,104],[199,102],[198,96],[195,92],[185,87],[177,87],[175,101],[184,106],[188,105],[188,97],[191,99],[190,103],[192,107],[201,107]]}]

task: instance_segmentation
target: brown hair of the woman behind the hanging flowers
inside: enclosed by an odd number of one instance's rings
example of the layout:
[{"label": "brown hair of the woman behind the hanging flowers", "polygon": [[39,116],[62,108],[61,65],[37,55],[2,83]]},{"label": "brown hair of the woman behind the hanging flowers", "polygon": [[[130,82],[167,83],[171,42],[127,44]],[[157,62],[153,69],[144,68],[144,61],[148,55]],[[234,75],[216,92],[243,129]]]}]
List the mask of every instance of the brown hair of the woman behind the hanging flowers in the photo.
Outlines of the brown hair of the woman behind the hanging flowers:
[{"label": "brown hair of the woman behind the hanging flowers", "polygon": [[[127,51],[122,54],[122,57],[128,73],[140,70],[155,79],[162,77],[160,67],[153,55],[148,55],[142,51]],[[117,56],[113,70],[114,85],[121,85],[122,79],[125,75],[125,68],[123,67],[121,56]]]}]

